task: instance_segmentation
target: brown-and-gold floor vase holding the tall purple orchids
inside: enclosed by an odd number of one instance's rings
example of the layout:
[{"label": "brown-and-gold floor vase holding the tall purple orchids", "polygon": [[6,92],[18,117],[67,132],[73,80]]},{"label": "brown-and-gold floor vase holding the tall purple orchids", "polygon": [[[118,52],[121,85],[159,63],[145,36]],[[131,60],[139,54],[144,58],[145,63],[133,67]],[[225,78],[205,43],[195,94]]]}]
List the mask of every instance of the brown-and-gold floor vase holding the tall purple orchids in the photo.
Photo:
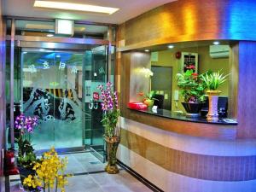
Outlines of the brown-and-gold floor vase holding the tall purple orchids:
[{"label": "brown-and-gold floor vase holding the tall purple orchids", "polygon": [[119,172],[119,168],[116,165],[116,152],[119,147],[120,137],[106,137],[105,141],[107,143],[107,159],[108,165],[105,167],[105,171],[109,174],[116,174]]}]

